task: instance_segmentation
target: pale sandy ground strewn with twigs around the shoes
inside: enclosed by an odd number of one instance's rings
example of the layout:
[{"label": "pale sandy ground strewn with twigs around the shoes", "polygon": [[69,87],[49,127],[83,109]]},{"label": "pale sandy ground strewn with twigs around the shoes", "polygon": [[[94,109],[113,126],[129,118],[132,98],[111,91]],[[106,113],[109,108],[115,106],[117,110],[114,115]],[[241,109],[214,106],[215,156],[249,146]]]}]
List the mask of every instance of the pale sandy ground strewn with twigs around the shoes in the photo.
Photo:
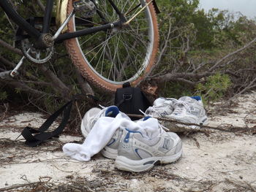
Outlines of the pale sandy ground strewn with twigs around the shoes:
[{"label": "pale sandy ground strewn with twigs around the shoes", "polygon": [[208,126],[245,131],[179,133],[184,153],[174,164],[148,172],[121,172],[114,161],[95,155],[89,162],[64,155],[66,142],[83,137],[61,135],[39,147],[27,147],[24,126],[39,127],[44,115],[23,112],[0,122],[0,191],[256,191],[256,92],[208,110]]}]

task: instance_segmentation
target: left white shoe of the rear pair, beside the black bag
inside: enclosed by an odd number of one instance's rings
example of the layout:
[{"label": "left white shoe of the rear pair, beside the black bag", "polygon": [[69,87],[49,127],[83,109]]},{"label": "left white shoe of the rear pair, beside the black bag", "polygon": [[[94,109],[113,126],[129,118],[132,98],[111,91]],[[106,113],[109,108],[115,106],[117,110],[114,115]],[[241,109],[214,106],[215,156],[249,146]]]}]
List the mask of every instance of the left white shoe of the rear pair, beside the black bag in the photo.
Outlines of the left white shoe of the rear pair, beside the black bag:
[{"label": "left white shoe of the rear pair, beside the black bag", "polygon": [[173,98],[160,97],[154,101],[153,107],[148,107],[145,113],[153,118],[161,118],[170,115],[177,101],[177,99]]}]

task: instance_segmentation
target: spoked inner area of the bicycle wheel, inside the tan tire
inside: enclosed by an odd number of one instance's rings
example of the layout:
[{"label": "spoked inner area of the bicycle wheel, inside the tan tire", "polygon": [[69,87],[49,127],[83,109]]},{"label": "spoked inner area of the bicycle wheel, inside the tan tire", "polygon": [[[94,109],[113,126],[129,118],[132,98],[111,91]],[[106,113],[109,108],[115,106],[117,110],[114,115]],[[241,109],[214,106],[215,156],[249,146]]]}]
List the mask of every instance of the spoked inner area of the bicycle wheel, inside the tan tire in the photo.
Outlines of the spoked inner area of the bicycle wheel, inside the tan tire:
[{"label": "spoked inner area of the bicycle wheel, inside the tan tire", "polygon": [[[126,20],[134,18],[145,5],[143,0],[112,0]],[[119,15],[109,1],[97,1],[97,12],[93,18],[84,19],[94,26],[118,21]],[[99,31],[97,34],[78,38],[80,50],[86,62],[99,77],[105,81],[126,82],[135,80],[148,66],[154,44],[154,26],[151,10],[146,7],[127,26]],[[79,20],[78,20],[79,21]],[[77,26],[83,28],[83,26]],[[93,46],[91,46],[93,45]],[[91,46],[91,47],[90,47]]]}]

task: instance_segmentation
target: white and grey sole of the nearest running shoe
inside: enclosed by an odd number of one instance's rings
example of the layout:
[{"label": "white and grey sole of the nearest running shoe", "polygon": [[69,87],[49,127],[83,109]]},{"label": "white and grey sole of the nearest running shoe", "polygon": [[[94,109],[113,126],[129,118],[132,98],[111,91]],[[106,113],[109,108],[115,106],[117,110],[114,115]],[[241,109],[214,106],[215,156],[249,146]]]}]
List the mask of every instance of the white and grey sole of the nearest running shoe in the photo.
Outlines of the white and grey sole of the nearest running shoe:
[{"label": "white and grey sole of the nearest running shoe", "polygon": [[138,161],[131,160],[124,156],[117,156],[115,161],[115,166],[117,169],[128,171],[128,172],[145,172],[151,169],[155,164],[160,162],[160,164],[170,164],[177,161],[182,155],[182,149],[171,156],[162,157],[151,157],[144,158]]}]

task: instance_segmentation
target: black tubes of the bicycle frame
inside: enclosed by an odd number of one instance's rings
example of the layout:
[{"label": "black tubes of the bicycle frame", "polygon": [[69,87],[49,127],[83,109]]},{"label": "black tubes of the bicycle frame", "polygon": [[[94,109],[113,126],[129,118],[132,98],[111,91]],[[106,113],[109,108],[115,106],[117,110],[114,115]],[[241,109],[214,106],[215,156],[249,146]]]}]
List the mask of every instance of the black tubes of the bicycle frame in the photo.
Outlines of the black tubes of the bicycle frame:
[{"label": "black tubes of the bicycle frame", "polygon": [[[60,34],[55,42],[62,42],[66,39],[81,37],[81,36],[87,35],[87,34],[94,34],[97,31],[105,31],[105,30],[108,30],[108,29],[116,27],[116,26],[121,26],[121,23],[124,22],[123,21],[124,15],[122,15],[121,12],[116,7],[116,5],[113,4],[113,1],[111,1],[111,0],[108,0],[108,1],[110,2],[113,9],[115,9],[116,13],[119,15],[120,21],[115,22],[115,23],[107,23],[107,24],[102,25],[102,26],[85,28],[85,29],[82,29],[82,30],[79,30],[79,31],[74,31],[74,32],[66,33],[66,34]],[[49,30],[50,30],[50,18],[51,18],[51,14],[53,12],[53,0],[48,0],[47,1],[46,7],[45,7],[45,15],[44,15],[44,18],[43,18],[43,23],[42,23],[42,33],[40,33],[36,28],[31,26],[24,18],[22,18],[18,14],[18,12],[16,12],[12,8],[12,6],[8,2],[8,0],[0,0],[0,6],[2,7],[2,9],[4,9],[4,12],[6,12],[6,14],[18,26],[20,26],[20,28],[22,28],[24,31],[26,31],[31,37],[39,39],[39,37],[41,37],[42,34],[47,34],[49,32]],[[122,20],[122,22],[121,22],[121,20]]]}]

